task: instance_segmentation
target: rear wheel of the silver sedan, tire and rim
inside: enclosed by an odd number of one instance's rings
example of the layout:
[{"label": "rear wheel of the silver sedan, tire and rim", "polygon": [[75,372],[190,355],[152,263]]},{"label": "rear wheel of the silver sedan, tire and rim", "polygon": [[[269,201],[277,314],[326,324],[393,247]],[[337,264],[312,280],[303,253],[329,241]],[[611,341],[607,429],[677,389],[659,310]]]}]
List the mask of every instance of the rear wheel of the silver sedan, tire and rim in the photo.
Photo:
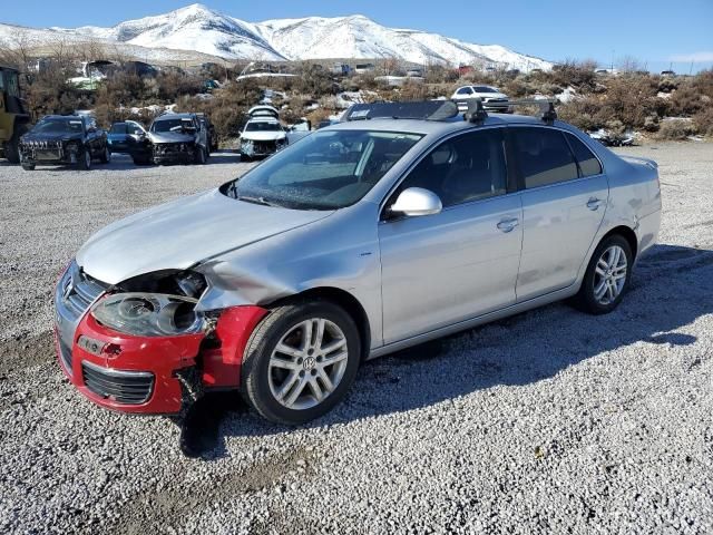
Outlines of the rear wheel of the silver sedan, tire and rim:
[{"label": "rear wheel of the silver sedan, tire and rim", "polygon": [[614,234],[599,243],[582,281],[576,302],[592,314],[606,314],[618,307],[624,296],[634,263],[632,247],[623,236]]}]

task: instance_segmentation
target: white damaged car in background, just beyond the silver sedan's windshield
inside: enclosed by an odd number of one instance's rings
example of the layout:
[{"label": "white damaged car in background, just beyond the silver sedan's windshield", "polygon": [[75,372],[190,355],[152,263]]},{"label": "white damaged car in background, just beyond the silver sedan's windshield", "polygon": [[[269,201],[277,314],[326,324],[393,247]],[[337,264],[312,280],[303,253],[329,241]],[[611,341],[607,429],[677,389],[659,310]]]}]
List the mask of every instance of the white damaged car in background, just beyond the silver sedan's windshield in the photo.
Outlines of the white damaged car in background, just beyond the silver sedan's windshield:
[{"label": "white damaged car in background, just beyond the silver sedan's windshield", "polygon": [[270,156],[287,145],[287,132],[280,123],[280,114],[272,106],[255,106],[241,133],[241,157],[252,159]]}]

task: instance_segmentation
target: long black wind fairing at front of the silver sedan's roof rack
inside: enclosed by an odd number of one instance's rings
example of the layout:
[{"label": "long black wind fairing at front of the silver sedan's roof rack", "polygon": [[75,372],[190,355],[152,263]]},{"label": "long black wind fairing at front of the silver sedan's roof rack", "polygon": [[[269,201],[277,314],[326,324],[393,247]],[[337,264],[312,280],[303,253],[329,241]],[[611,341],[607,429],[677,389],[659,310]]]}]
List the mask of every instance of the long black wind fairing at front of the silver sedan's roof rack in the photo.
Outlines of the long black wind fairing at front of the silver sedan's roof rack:
[{"label": "long black wind fairing at front of the silver sedan's roof rack", "polygon": [[458,117],[458,106],[451,100],[418,100],[410,103],[353,104],[343,121],[377,118],[445,120]]}]

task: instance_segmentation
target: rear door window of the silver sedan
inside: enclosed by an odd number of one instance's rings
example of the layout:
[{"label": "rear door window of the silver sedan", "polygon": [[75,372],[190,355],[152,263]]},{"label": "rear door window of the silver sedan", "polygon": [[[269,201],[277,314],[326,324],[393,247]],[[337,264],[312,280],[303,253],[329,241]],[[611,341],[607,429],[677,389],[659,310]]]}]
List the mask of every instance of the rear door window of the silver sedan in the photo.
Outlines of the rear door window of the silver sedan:
[{"label": "rear door window of the silver sedan", "polygon": [[515,156],[525,188],[548,186],[579,177],[561,132],[546,127],[512,128]]}]

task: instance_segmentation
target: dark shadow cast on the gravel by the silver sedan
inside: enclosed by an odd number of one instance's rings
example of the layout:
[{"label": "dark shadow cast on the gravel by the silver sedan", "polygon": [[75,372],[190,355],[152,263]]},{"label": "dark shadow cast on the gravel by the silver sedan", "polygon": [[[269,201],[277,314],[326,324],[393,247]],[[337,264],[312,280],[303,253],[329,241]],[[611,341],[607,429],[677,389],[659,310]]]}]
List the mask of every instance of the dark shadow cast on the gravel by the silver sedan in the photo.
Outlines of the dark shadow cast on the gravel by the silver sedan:
[{"label": "dark shadow cast on the gravel by the silver sedan", "polygon": [[[365,362],[349,397],[309,424],[324,427],[428,407],[495,386],[524,386],[637,342],[696,341],[675,332],[713,313],[713,246],[656,245],[637,264],[622,305],[588,315],[564,303],[514,315]],[[697,299],[696,299],[697,298]],[[236,392],[212,395],[182,428],[186,455],[226,455],[225,437],[289,432],[247,410]]]}]

